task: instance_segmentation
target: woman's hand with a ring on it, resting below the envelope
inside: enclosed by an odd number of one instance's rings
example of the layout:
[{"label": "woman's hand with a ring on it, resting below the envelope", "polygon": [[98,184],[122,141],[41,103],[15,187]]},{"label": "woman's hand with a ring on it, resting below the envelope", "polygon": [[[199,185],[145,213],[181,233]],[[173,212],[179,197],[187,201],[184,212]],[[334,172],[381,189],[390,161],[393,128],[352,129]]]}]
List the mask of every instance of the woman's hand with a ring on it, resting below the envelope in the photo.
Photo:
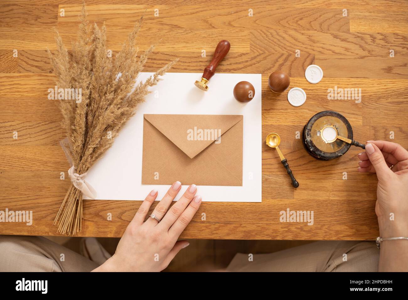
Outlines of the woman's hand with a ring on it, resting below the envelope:
[{"label": "woman's hand with a ring on it, resting below the envelope", "polygon": [[149,272],[165,269],[175,255],[188,246],[187,241],[177,239],[201,204],[201,197],[195,196],[197,187],[192,184],[169,209],[180,189],[180,182],[173,183],[153,210],[152,215],[160,222],[154,218],[148,218],[145,222],[157,197],[157,191],[151,191],[126,228],[115,254],[94,271]]}]

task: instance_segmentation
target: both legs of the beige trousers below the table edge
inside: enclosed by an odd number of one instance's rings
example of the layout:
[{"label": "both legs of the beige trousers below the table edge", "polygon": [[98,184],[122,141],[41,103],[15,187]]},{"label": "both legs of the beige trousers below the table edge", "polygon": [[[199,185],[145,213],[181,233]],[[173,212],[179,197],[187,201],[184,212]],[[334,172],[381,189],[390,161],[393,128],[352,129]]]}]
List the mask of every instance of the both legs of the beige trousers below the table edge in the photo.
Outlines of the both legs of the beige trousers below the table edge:
[{"label": "both legs of the beige trousers below the table edge", "polygon": [[[346,256],[345,256],[346,254]],[[378,271],[374,242],[321,241],[270,254],[238,253],[229,271]],[[38,236],[0,236],[0,271],[88,272],[99,264]]]}]

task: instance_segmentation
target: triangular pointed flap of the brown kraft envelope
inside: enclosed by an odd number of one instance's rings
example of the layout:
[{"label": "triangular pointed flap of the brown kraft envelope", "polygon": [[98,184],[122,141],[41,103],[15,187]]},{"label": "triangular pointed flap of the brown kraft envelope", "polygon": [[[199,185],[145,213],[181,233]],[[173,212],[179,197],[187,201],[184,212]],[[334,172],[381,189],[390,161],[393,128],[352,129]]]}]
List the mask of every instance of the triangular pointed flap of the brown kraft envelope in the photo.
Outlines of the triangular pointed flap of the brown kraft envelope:
[{"label": "triangular pointed flap of the brown kraft envelope", "polygon": [[190,158],[242,120],[240,115],[157,115],[144,118]]}]

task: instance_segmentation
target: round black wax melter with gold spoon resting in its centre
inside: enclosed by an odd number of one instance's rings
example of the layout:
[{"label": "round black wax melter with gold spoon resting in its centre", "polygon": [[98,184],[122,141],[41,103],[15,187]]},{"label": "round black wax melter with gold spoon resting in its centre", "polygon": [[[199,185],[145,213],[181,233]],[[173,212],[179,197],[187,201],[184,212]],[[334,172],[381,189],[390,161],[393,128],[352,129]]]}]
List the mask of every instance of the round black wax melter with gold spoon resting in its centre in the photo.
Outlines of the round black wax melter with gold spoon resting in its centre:
[{"label": "round black wax melter with gold spoon resting in its centre", "polygon": [[303,129],[303,145],[306,151],[319,160],[338,158],[350,146],[365,148],[353,140],[353,129],[343,115],[335,111],[316,113]]}]

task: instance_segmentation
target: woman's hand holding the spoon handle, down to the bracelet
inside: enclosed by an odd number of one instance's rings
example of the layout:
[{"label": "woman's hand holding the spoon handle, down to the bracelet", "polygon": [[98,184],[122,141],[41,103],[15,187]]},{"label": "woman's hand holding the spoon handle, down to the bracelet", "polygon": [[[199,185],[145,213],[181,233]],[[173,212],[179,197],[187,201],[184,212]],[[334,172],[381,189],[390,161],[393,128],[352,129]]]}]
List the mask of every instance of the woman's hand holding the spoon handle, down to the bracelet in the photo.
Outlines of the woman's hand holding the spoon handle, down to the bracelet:
[{"label": "woman's hand holding the spoon handle, down to the bracelet", "polygon": [[379,140],[367,143],[366,152],[358,155],[358,171],[377,173],[375,213],[380,236],[408,237],[408,151],[392,142]]}]

